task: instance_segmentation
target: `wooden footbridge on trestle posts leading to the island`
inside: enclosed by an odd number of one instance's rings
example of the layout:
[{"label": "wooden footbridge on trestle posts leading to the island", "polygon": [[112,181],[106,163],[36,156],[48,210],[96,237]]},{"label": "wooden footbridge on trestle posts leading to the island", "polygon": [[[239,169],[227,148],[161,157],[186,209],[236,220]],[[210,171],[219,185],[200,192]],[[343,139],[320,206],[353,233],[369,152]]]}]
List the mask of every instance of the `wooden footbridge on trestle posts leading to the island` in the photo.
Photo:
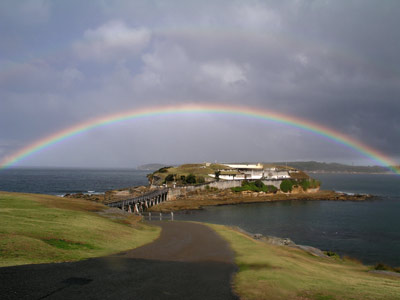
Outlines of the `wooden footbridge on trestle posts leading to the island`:
[{"label": "wooden footbridge on trestle posts leading to the island", "polygon": [[156,189],[138,197],[125,198],[116,202],[107,203],[106,205],[140,214],[149,207],[167,201],[168,191],[168,188]]}]

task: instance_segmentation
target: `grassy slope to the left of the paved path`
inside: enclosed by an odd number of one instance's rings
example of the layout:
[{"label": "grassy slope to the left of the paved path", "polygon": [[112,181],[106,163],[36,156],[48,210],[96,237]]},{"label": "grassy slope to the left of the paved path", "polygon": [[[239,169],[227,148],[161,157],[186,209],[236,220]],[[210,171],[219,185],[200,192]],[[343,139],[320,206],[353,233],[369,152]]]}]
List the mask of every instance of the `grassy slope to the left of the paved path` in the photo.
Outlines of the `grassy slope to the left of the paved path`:
[{"label": "grassy slope to the left of the paved path", "polygon": [[81,260],[149,243],[158,227],[134,216],[101,216],[101,204],[0,192],[0,266]]}]

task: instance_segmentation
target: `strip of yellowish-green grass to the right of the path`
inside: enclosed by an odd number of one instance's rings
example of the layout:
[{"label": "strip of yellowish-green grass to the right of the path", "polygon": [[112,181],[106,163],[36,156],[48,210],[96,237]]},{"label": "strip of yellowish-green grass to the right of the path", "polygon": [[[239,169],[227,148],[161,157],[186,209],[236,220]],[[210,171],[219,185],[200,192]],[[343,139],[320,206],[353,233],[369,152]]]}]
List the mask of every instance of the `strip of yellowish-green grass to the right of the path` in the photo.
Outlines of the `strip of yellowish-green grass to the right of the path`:
[{"label": "strip of yellowish-green grass to the right of the path", "polygon": [[241,299],[400,299],[400,279],[368,273],[370,267],[319,258],[256,241],[233,229],[210,225],[236,253],[234,289]]}]

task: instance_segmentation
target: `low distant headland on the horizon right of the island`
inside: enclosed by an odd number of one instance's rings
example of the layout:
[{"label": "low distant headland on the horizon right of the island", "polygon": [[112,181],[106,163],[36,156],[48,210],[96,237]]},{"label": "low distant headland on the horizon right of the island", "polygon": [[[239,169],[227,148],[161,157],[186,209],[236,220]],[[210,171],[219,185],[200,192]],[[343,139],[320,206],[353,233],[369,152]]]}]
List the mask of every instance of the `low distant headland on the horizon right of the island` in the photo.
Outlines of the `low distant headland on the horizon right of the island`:
[{"label": "low distant headland on the horizon right of the island", "polygon": [[288,165],[305,172],[331,173],[388,173],[387,168],[380,166],[352,166],[339,163],[325,163],[317,161],[274,162],[274,164]]}]

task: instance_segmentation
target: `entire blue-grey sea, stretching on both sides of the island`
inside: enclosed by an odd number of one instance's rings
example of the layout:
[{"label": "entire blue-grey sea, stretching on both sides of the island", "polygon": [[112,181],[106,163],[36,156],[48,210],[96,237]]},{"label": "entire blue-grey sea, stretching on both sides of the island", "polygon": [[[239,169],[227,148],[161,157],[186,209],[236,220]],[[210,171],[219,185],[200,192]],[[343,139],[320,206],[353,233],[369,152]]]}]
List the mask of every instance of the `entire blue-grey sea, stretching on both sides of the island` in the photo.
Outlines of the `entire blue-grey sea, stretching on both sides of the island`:
[{"label": "entire blue-grey sea, stretching on both sides of the island", "polygon": [[[104,192],[147,184],[148,171],[11,169],[0,171],[0,190],[63,195]],[[369,193],[364,202],[285,201],[208,207],[179,220],[240,226],[298,244],[358,258],[365,263],[400,266],[400,176],[312,174],[324,189]]]}]

